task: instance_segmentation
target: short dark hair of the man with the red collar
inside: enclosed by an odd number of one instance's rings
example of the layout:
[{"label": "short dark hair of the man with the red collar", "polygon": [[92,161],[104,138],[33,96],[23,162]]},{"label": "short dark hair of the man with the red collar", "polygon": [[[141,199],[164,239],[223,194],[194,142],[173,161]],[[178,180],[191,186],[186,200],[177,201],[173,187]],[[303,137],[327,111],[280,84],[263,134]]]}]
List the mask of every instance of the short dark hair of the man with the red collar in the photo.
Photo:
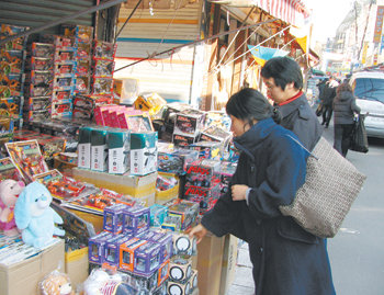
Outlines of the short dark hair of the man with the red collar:
[{"label": "short dark hair of the man with the red collar", "polygon": [[298,64],[289,57],[274,57],[261,69],[263,78],[273,78],[274,83],[285,90],[286,84],[294,82],[297,90],[303,88],[303,75]]}]

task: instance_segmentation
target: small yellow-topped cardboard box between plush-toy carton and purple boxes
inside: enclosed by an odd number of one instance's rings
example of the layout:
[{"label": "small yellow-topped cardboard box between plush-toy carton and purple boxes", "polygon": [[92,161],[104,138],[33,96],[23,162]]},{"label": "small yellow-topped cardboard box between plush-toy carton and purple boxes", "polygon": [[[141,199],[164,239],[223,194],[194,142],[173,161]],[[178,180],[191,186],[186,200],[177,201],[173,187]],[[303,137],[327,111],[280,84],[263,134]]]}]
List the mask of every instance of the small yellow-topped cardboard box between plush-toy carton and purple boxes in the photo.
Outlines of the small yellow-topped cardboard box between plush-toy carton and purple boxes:
[{"label": "small yellow-topped cardboard box between plush-toy carton and purple boxes", "polygon": [[67,252],[65,261],[66,273],[70,277],[72,288],[77,290],[77,285],[83,283],[88,277],[88,247]]}]

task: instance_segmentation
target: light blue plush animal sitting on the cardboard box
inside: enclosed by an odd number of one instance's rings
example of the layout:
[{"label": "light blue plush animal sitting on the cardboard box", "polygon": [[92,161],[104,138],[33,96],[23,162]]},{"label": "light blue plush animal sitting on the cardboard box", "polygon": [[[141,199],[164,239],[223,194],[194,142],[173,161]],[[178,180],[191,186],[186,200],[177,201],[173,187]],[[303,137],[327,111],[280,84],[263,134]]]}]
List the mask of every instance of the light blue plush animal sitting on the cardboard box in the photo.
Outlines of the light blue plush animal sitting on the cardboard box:
[{"label": "light blue plush animal sitting on the cardboard box", "polygon": [[34,181],[25,186],[14,206],[14,220],[22,231],[23,241],[35,248],[43,248],[53,239],[53,235],[64,236],[57,228],[61,217],[49,206],[52,195],[47,188]]}]

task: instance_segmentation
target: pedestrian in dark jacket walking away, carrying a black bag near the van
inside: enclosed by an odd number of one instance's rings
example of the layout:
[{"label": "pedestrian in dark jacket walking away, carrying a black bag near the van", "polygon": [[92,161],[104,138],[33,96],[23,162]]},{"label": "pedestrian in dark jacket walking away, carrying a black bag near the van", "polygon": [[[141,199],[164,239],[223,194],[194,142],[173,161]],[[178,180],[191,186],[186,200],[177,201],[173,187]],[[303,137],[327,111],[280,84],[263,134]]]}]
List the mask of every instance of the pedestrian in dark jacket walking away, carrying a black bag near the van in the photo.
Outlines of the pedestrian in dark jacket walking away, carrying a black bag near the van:
[{"label": "pedestrian in dark jacket walking away, carrying a black bag near the van", "polygon": [[332,107],[334,148],[346,157],[351,143],[354,113],[360,113],[360,107],[355,104],[353,90],[349,83],[342,83],[338,87]]}]

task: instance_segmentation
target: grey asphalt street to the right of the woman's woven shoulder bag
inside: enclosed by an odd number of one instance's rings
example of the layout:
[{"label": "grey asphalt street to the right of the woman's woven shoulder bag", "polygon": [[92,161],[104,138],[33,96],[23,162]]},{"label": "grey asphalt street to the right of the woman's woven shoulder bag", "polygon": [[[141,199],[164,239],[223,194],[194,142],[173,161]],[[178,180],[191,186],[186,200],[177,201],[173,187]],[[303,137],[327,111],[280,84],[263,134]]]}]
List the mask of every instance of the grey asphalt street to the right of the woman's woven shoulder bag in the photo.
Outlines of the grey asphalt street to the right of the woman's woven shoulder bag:
[{"label": "grey asphalt street to the right of the woman's woven shoulder bag", "polygon": [[[332,144],[334,128],[324,136]],[[338,235],[328,239],[337,295],[384,294],[384,139],[370,138],[368,154],[349,151],[368,175]]]}]

